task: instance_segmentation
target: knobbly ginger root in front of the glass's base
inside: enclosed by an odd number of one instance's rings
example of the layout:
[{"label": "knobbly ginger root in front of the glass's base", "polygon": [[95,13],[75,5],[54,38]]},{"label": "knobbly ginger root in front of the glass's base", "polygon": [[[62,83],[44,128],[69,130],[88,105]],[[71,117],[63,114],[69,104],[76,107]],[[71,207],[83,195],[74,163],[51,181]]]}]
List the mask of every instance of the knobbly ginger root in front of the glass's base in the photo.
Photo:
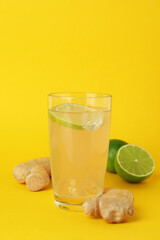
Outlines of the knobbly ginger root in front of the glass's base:
[{"label": "knobbly ginger root in front of the glass's base", "polygon": [[109,223],[120,223],[134,214],[133,201],[133,194],[128,190],[106,188],[100,197],[84,202],[83,212]]}]

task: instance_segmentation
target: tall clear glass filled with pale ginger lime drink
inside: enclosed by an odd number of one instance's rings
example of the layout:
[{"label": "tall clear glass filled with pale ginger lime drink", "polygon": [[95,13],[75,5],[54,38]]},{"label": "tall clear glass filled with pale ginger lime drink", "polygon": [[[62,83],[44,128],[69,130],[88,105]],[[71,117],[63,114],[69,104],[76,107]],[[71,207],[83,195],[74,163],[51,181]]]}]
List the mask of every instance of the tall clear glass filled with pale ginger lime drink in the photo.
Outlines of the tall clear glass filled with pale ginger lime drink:
[{"label": "tall clear glass filled with pale ginger lime drink", "polygon": [[78,211],[104,189],[111,95],[49,94],[52,183],[57,206]]}]

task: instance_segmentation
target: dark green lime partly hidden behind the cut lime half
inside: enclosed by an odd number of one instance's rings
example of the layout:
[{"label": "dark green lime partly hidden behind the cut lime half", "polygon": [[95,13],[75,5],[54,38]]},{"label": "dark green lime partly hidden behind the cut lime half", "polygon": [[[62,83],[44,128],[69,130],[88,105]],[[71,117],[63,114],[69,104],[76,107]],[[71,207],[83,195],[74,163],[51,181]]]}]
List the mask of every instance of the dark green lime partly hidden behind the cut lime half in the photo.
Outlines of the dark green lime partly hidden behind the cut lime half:
[{"label": "dark green lime partly hidden behind the cut lime half", "polygon": [[108,162],[107,162],[107,170],[109,172],[116,173],[116,169],[114,166],[115,157],[118,152],[118,149],[125,144],[127,143],[119,139],[111,139],[109,141],[109,152],[108,152]]}]

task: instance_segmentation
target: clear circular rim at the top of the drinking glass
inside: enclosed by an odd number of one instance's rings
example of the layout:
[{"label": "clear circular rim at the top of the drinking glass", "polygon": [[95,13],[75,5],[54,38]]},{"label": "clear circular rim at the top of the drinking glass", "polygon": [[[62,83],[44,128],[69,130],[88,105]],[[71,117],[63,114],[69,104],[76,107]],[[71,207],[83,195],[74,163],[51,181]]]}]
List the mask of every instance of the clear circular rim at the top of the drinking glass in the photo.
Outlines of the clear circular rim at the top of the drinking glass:
[{"label": "clear circular rim at the top of the drinking glass", "polygon": [[[86,96],[65,96],[65,94],[86,94]],[[87,94],[95,94],[95,96],[87,96]],[[96,92],[54,92],[49,93],[48,97],[56,97],[56,98],[66,98],[66,99],[85,99],[85,98],[112,98],[111,94],[108,93],[96,93]]]}]

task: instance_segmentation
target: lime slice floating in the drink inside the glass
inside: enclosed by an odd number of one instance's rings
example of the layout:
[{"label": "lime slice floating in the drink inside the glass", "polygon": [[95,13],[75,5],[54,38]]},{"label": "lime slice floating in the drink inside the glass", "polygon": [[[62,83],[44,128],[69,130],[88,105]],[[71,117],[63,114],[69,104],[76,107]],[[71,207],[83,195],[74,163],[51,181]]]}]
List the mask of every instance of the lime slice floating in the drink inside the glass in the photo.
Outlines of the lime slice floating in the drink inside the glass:
[{"label": "lime slice floating in the drink inside the glass", "polygon": [[74,129],[96,130],[103,123],[103,111],[80,104],[62,104],[49,110],[54,122]]}]

